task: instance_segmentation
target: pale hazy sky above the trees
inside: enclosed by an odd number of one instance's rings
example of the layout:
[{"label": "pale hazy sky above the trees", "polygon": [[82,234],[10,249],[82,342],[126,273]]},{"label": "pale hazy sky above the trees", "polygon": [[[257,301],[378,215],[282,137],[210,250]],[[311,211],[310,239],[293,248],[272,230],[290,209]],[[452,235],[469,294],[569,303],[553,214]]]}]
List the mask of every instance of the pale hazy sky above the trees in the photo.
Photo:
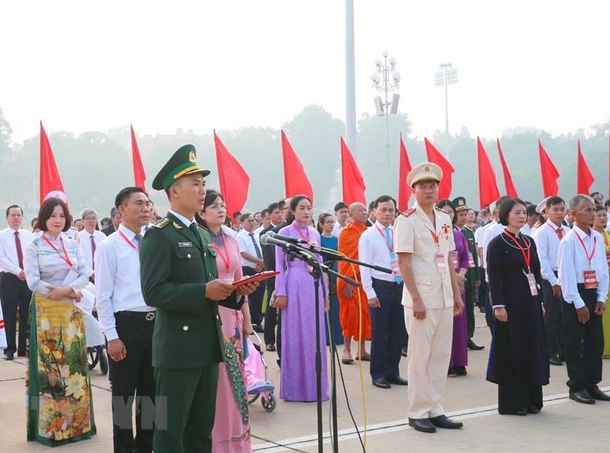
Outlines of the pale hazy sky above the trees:
[{"label": "pale hazy sky above the trees", "polygon": [[[610,118],[610,4],[355,0],[356,115],[384,50],[414,132],[574,132]],[[0,106],[13,141],[47,132],[139,134],[279,127],[308,104],[345,119],[344,1],[6,1]]]}]

